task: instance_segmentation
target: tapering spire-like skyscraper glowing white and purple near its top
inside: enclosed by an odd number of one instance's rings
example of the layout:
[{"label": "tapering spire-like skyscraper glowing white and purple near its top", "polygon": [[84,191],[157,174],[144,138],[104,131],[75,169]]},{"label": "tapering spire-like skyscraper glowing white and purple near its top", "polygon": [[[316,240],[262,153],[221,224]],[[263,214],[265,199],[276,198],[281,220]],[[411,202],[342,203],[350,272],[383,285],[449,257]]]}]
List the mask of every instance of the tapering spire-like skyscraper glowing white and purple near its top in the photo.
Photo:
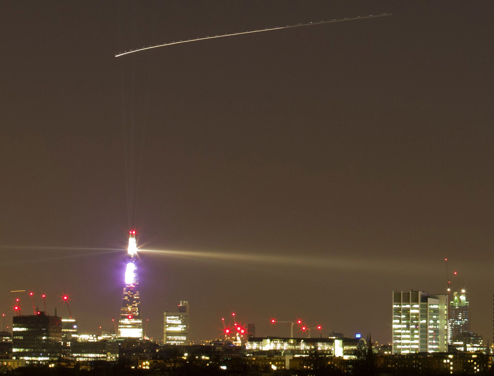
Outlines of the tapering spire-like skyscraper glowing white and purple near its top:
[{"label": "tapering spire-like skyscraper glowing white and purple near its top", "polygon": [[130,231],[127,256],[124,301],[120,310],[119,336],[124,338],[142,338],[141,300],[139,295],[139,280],[137,278],[135,231]]}]

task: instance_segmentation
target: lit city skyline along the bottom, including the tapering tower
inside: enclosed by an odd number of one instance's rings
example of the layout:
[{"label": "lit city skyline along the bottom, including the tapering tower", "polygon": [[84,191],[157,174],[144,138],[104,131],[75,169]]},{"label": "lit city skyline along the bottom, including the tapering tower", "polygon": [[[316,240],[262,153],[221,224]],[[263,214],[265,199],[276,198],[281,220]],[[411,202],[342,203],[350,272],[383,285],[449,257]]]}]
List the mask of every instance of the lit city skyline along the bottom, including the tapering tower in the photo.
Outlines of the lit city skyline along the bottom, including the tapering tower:
[{"label": "lit city skyline along the bottom, including the tapering tower", "polygon": [[[272,319],[273,324],[288,324],[290,336],[258,337],[255,324],[241,325],[235,313],[233,325],[222,319],[224,338],[191,344],[188,301],[180,301],[175,309],[164,312],[163,340],[154,340],[143,330],[136,254],[135,231],[131,231],[122,307],[114,331],[79,333],[67,297],[64,300],[69,318],[57,316],[56,310],[53,316],[37,309],[32,315],[21,315],[16,305],[12,332],[0,332],[0,373],[1,367],[37,365],[91,369],[101,362],[124,362],[134,369],[161,372],[171,364],[193,364],[198,372],[207,367],[238,369],[242,364],[244,369],[261,374],[290,369],[386,374],[401,368],[453,374],[485,372],[493,366],[492,349],[471,332],[464,289],[453,293],[448,289],[448,294],[393,291],[392,336],[388,344],[373,342],[370,334],[367,338],[360,334],[346,337],[333,331],[323,336],[321,326],[306,328],[301,320]],[[303,331],[302,337],[293,336],[294,326]],[[318,335],[312,337],[311,330]]]}]

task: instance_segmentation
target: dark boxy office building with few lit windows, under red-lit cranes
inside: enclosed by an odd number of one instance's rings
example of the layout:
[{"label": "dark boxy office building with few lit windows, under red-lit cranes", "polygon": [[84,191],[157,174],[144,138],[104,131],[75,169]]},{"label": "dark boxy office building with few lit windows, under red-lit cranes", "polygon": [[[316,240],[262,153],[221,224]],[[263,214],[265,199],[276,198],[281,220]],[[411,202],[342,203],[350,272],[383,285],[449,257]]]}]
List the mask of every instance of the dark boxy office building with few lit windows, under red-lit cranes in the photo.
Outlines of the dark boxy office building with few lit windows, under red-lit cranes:
[{"label": "dark boxy office building with few lit windows, under red-lit cranes", "polygon": [[37,315],[13,317],[12,359],[27,364],[47,364],[58,360],[62,348],[62,319]]}]

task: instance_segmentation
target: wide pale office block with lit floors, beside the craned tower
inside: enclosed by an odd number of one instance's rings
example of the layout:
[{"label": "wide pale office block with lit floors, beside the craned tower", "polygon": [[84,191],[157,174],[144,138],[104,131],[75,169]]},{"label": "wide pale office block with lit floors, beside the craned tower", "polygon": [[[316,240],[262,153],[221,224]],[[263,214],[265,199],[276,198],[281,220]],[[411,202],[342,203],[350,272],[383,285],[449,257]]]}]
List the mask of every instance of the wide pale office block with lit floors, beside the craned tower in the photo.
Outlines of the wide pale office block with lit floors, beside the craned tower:
[{"label": "wide pale office block with lit floors, beside the craned tower", "polygon": [[393,354],[448,351],[448,296],[393,291]]}]

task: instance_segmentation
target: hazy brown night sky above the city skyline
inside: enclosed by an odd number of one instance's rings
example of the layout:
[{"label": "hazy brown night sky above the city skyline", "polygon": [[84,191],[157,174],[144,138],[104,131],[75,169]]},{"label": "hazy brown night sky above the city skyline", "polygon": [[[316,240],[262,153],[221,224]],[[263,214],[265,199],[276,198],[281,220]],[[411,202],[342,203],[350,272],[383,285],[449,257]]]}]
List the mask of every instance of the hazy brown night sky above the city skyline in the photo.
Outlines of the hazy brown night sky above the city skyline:
[{"label": "hazy brown night sky above the city skyline", "polygon": [[124,249],[135,226],[180,251],[140,253],[151,337],[188,300],[191,339],[235,311],[260,336],[300,317],[387,342],[391,292],[445,293],[447,257],[492,340],[494,5],[403,3],[1,1],[6,322],[32,290],[111,330],[125,252],[52,248]]}]

